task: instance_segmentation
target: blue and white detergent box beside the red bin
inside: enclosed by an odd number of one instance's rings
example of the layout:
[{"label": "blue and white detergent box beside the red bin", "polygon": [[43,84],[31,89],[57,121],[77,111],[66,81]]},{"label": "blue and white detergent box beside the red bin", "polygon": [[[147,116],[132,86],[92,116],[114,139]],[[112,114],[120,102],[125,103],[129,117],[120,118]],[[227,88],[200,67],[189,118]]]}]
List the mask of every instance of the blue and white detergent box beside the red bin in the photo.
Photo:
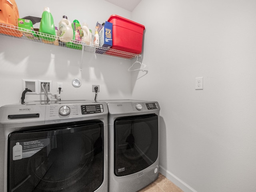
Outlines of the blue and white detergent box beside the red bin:
[{"label": "blue and white detergent box beside the red bin", "polygon": [[99,42],[100,46],[111,48],[112,47],[112,27],[113,24],[110,22],[105,22],[103,28],[99,32]]}]

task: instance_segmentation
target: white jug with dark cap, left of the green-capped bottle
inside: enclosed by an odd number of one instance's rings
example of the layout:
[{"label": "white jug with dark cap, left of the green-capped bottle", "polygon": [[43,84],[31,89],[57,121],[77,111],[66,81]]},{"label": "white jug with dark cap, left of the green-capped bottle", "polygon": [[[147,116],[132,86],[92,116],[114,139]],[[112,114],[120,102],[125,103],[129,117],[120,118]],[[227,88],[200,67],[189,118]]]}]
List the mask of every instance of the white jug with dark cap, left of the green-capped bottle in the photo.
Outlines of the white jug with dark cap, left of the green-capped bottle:
[{"label": "white jug with dark cap, left of the green-capped bottle", "polygon": [[[61,42],[70,42],[73,38],[73,29],[67,16],[63,16],[59,22],[59,37]],[[63,39],[62,39],[63,38]]]}]

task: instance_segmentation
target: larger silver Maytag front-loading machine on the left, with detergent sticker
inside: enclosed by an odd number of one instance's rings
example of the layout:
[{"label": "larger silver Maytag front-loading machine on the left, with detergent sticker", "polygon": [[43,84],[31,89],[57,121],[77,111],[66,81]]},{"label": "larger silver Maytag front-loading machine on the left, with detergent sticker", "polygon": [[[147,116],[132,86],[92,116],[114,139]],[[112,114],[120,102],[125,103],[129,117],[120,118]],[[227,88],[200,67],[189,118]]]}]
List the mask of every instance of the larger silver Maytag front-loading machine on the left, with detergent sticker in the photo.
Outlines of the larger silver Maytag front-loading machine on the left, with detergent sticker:
[{"label": "larger silver Maytag front-loading machine on the left, with detergent sticker", "polygon": [[108,191],[107,104],[0,107],[0,191]]}]

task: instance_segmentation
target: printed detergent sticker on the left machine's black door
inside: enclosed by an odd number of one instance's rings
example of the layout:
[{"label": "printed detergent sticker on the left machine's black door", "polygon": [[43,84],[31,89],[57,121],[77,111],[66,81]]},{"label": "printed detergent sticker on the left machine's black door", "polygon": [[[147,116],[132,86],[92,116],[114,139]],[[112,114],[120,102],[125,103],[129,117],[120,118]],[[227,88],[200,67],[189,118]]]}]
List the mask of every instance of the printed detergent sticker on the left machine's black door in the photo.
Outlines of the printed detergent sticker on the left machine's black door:
[{"label": "printed detergent sticker on the left machine's black door", "polygon": [[[48,144],[50,144],[49,138],[25,141],[25,142],[17,142],[16,145],[13,147],[13,160],[19,160],[19,159],[31,157],[34,154],[36,154],[38,151],[40,151],[42,148],[46,147]],[[17,148],[22,149],[22,154],[17,155],[18,154]]]}]

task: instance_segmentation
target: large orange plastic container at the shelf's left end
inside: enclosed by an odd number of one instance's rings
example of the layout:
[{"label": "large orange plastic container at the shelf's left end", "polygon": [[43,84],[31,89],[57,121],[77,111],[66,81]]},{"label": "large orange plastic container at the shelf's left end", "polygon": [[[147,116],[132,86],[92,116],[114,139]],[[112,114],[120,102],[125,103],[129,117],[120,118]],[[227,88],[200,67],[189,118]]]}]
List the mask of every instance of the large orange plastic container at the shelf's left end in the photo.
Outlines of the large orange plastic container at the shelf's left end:
[{"label": "large orange plastic container at the shelf's left end", "polygon": [[0,0],[0,33],[21,37],[18,31],[19,11],[15,0]]}]

